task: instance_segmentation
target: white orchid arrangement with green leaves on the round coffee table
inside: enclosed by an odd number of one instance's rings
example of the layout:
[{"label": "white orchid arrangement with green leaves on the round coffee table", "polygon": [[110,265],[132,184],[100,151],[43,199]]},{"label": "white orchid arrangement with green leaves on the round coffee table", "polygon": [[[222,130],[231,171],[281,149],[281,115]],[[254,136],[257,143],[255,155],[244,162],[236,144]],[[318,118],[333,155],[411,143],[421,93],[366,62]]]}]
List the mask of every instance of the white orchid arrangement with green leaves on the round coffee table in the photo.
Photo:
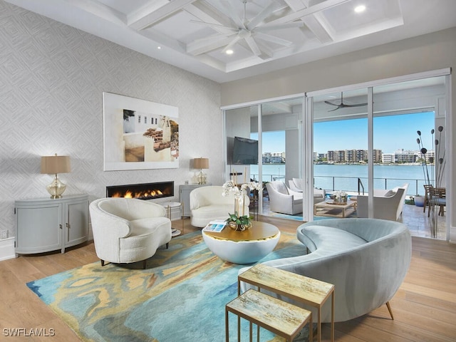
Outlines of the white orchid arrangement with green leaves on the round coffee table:
[{"label": "white orchid arrangement with green leaves on the round coffee table", "polygon": [[252,227],[252,217],[245,214],[244,202],[247,196],[247,189],[249,192],[252,190],[261,190],[261,184],[259,182],[248,182],[239,186],[230,180],[223,185],[223,196],[228,196],[229,194],[234,195],[234,214],[228,213],[229,217],[226,220],[228,226],[234,230],[244,231]]}]

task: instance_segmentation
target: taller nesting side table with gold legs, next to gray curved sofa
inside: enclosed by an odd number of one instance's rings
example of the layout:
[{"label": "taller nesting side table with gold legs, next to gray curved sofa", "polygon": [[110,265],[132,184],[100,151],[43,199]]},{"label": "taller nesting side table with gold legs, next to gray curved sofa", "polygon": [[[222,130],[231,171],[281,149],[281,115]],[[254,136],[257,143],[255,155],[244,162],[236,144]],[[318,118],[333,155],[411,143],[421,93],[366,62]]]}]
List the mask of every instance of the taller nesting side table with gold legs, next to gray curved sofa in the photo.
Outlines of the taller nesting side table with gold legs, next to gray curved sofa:
[{"label": "taller nesting side table with gold legs, next to gray curved sofa", "polygon": [[[317,336],[321,341],[321,307],[331,296],[331,342],[334,341],[334,285],[312,279],[300,274],[294,274],[275,267],[257,264],[237,278],[237,291],[240,293],[240,284],[244,281],[266,289],[276,294],[281,294],[289,299],[314,306],[318,310]],[[311,341],[311,340],[310,340]]]}]

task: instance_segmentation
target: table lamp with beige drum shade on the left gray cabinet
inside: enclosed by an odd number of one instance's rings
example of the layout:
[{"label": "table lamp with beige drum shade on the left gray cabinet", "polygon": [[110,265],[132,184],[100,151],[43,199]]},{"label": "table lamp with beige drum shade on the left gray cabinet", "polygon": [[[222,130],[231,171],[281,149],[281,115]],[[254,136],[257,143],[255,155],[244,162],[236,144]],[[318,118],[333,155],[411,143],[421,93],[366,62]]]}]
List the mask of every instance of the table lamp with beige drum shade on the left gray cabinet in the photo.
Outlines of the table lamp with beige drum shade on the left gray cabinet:
[{"label": "table lamp with beige drum shade on the left gray cabinet", "polygon": [[48,175],[56,175],[50,185],[46,187],[51,198],[61,198],[63,192],[66,190],[64,185],[59,179],[59,173],[71,172],[70,157],[68,155],[49,155],[41,157],[41,173]]}]

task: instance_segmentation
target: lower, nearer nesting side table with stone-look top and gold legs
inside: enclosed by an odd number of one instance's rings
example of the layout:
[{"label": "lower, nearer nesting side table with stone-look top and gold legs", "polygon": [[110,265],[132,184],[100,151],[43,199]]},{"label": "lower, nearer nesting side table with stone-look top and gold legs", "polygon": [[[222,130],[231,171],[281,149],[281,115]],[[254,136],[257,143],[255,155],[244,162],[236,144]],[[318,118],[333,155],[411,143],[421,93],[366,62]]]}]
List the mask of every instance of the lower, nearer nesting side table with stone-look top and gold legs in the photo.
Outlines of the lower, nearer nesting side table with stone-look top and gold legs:
[{"label": "lower, nearer nesting side table with stone-look top and gold legs", "polygon": [[257,341],[259,342],[259,328],[275,333],[293,341],[307,323],[309,323],[309,336],[312,341],[312,313],[259,291],[249,289],[244,294],[230,301],[225,306],[225,338],[229,342],[229,312],[238,316],[237,341],[241,341],[240,318],[249,321],[249,337],[252,342],[252,325],[257,325]]}]

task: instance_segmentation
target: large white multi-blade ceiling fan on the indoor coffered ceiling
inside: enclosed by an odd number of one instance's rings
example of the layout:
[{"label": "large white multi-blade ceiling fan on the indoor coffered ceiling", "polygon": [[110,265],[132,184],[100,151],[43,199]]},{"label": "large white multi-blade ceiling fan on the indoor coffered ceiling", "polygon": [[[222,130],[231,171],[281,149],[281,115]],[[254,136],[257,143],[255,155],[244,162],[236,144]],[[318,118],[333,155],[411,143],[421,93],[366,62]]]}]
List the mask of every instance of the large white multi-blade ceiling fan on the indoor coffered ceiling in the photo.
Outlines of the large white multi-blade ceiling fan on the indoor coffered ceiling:
[{"label": "large white multi-blade ceiling fan on the indoor coffered ceiling", "polygon": [[[291,41],[287,41],[286,39],[271,36],[267,32],[279,30],[282,28],[301,27],[304,26],[303,21],[292,21],[284,24],[261,24],[261,22],[264,21],[264,19],[268,18],[271,14],[274,13],[274,11],[281,8],[281,5],[277,4],[276,0],[273,0],[271,4],[269,4],[269,6],[266,6],[266,8],[260,11],[259,14],[257,14],[257,16],[254,16],[253,19],[248,20],[245,17],[247,1],[248,0],[242,0],[242,3],[244,4],[244,16],[242,19],[237,14],[236,10],[234,9],[230,1],[220,1],[220,4],[222,4],[223,7],[223,14],[228,16],[229,19],[231,19],[232,21],[232,24],[230,26],[212,24],[204,21],[192,20],[192,22],[197,24],[204,24],[217,29],[217,31],[219,31],[220,33],[217,34],[217,36],[219,37],[219,41],[223,37],[231,38],[231,40],[228,40],[227,43],[223,43],[222,46],[224,46],[224,49],[222,52],[228,51],[229,49],[233,48],[235,44],[240,43],[242,40],[244,40],[247,43],[250,50],[252,50],[255,56],[259,56],[262,53],[266,53],[266,55],[271,56],[271,52],[268,51],[269,49],[266,46],[264,46],[264,43],[262,41],[268,41],[271,43],[276,43],[280,46],[287,47],[293,44]],[[214,38],[217,37],[209,36],[207,38],[197,39],[195,43],[197,42],[199,44],[202,44],[203,46],[204,43],[207,43],[207,46],[212,46]]]}]

